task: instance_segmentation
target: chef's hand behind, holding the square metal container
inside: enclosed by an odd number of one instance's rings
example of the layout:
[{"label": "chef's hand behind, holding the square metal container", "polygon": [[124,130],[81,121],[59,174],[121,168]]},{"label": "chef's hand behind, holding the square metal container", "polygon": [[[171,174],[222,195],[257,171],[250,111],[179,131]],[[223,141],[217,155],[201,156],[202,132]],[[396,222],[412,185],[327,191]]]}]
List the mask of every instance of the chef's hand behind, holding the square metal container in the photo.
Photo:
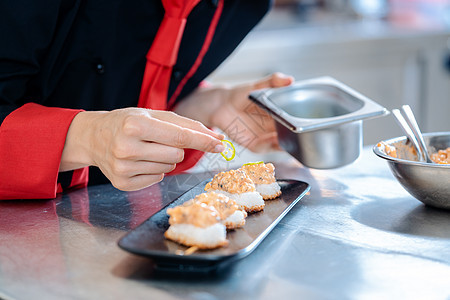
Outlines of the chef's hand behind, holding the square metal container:
[{"label": "chef's hand behind, holding the square metal container", "polygon": [[283,87],[293,81],[291,76],[274,73],[236,87],[199,88],[184,99],[175,111],[200,120],[209,127],[221,129],[230,139],[251,151],[279,150],[274,120],[248,95],[254,90]]}]

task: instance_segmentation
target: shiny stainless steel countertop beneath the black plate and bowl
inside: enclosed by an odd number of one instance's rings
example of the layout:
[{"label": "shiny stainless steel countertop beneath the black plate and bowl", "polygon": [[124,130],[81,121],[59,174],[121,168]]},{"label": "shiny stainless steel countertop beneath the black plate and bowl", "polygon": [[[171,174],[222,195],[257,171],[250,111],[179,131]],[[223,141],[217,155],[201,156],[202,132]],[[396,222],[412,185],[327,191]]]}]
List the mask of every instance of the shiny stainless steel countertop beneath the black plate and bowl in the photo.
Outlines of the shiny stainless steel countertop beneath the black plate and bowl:
[{"label": "shiny stainless steel countertop beneath the black plate and bowl", "polygon": [[0,202],[4,299],[448,299],[450,212],[424,206],[365,148],[354,164],[277,177],[311,192],[246,258],[213,274],[155,270],[117,241],[211,174],[126,193],[110,185],[55,200]]}]

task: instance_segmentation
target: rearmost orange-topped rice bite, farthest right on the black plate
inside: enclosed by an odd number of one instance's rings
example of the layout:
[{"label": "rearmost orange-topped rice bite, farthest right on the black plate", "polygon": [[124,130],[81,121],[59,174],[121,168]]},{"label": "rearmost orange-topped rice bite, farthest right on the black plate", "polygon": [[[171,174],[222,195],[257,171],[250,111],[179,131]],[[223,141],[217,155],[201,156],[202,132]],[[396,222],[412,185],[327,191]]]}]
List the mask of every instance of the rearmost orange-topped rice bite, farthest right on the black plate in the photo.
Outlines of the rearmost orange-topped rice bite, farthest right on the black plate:
[{"label": "rearmost orange-topped rice bite, farthest right on the black plate", "polygon": [[271,163],[248,163],[241,167],[255,183],[256,191],[264,200],[275,199],[281,195],[281,188],[275,179],[275,167]]}]

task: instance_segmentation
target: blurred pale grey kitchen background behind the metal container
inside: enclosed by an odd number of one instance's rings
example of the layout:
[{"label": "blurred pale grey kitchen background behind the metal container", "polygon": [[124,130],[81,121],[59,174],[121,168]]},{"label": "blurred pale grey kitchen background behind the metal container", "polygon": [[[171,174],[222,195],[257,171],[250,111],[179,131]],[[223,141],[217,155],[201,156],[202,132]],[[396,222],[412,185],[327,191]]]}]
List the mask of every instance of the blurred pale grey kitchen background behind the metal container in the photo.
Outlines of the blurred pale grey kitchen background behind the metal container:
[{"label": "blurred pale grey kitchen background behind the metal container", "polygon": [[[332,76],[386,108],[409,104],[424,132],[450,131],[450,0],[277,0],[209,78]],[[403,135],[364,121],[364,144]]]}]

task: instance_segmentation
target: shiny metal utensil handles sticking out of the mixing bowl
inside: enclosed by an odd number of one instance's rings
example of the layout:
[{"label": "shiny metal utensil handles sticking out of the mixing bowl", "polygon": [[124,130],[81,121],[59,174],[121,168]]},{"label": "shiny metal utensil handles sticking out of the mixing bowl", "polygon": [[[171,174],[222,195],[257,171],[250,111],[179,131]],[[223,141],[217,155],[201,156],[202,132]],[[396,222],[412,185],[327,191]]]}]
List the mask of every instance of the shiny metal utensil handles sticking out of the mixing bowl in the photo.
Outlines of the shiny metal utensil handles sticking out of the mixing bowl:
[{"label": "shiny metal utensil handles sticking out of the mixing bowl", "polygon": [[433,163],[427,151],[427,146],[423,140],[422,132],[417,124],[416,118],[409,105],[403,105],[400,110],[393,109],[392,113],[396,121],[405,132],[408,139],[412,142],[419,154],[419,160],[427,163]]}]

